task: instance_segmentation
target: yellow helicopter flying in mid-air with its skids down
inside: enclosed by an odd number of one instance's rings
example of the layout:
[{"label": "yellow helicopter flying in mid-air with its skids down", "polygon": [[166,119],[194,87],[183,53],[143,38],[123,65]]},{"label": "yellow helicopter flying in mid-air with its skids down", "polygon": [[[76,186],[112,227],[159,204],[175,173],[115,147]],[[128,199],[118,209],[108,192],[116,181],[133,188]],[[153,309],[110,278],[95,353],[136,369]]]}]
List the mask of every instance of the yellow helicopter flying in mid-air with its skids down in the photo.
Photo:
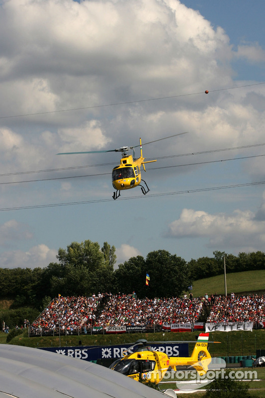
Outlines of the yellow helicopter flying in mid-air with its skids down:
[{"label": "yellow helicopter flying in mid-air with its skids down", "polygon": [[[130,147],[123,146],[121,148],[110,149],[110,150],[106,150],[106,151],[64,152],[64,153],[58,153],[57,155],[76,155],[76,154],[84,154],[84,153],[121,152],[122,158],[120,160],[120,164],[118,166],[115,166],[112,170],[112,186],[116,190],[113,193],[112,198],[115,200],[120,197],[120,191],[129,190],[129,189],[138,187],[138,185],[141,187],[142,193],[144,195],[146,195],[150,191],[150,189],[148,188],[147,183],[141,178],[141,166],[143,165],[143,169],[144,169],[144,171],[146,171],[145,164],[156,162],[157,160],[145,161],[145,158],[143,157],[142,146],[151,144],[153,142],[162,141],[167,138],[176,137],[177,135],[182,135],[182,134],[186,134],[186,132],[171,135],[170,137],[164,137],[164,138],[160,138],[158,140],[146,142],[145,144],[142,144],[142,141],[140,138],[140,145],[136,145],[136,146],[130,146]],[[135,150],[134,149],[138,148],[138,147],[140,147],[140,157],[135,158]],[[128,154],[129,150],[133,150],[133,155]],[[140,184],[141,182],[143,182],[145,185],[141,185]]]}]

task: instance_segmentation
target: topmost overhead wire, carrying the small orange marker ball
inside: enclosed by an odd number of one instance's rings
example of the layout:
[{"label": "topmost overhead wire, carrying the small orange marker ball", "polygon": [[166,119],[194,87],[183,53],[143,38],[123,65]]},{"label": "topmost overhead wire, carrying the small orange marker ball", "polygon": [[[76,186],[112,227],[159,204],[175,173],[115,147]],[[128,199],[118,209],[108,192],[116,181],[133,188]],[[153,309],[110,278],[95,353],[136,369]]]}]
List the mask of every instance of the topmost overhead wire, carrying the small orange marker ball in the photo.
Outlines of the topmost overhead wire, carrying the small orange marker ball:
[{"label": "topmost overhead wire, carrying the small orange marker ball", "polygon": [[[228,87],[225,89],[216,89],[216,90],[211,90],[208,91],[208,93],[215,93],[217,91],[225,91],[225,90],[234,90],[234,89],[240,89],[243,87],[252,87],[252,86],[260,86],[265,84],[265,82],[261,83],[254,83],[254,84],[247,84],[243,86],[235,86],[235,87]],[[207,93],[207,94],[208,94]],[[71,108],[71,109],[61,109],[61,110],[49,110],[46,112],[36,112],[36,113],[22,113],[18,115],[9,115],[9,116],[0,116],[0,119],[7,119],[11,117],[22,117],[22,116],[33,116],[33,115],[43,115],[43,114],[48,114],[48,113],[59,113],[59,112],[70,112],[74,110],[83,110],[83,109],[93,109],[93,108],[103,108],[107,106],[117,106],[117,105],[125,105],[129,103],[137,103],[137,102],[147,102],[147,101],[157,101],[157,100],[167,100],[167,99],[172,99],[172,98],[178,98],[178,97],[187,97],[187,96],[195,96],[198,94],[205,94],[205,92],[199,92],[199,93],[190,93],[190,94],[179,94],[177,96],[168,96],[168,97],[158,97],[158,98],[151,98],[151,99],[146,99],[146,100],[135,100],[135,101],[125,101],[125,102],[114,102],[114,103],[108,103],[108,104],[103,104],[103,105],[92,105],[92,106],[83,106],[80,108]]]}]

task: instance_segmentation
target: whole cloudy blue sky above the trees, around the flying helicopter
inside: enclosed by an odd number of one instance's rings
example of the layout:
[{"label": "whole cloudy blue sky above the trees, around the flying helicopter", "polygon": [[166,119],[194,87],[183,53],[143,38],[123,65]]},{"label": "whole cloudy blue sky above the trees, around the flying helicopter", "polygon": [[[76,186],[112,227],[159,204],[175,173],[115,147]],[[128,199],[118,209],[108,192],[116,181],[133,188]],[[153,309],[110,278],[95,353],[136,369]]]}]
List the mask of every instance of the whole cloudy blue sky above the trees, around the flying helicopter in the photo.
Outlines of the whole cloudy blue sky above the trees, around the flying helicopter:
[{"label": "whole cloudy blue sky above the trees, around the flying helicopter", "polygon": [[[264,12],[245,0],[0,1],[0,267],[45,267],[86,239],[114,245],[117,263],[264,251]],[[146,196],[111,198],[117,153],[56,155],[185,131],[143,146],[158,159]]]}]

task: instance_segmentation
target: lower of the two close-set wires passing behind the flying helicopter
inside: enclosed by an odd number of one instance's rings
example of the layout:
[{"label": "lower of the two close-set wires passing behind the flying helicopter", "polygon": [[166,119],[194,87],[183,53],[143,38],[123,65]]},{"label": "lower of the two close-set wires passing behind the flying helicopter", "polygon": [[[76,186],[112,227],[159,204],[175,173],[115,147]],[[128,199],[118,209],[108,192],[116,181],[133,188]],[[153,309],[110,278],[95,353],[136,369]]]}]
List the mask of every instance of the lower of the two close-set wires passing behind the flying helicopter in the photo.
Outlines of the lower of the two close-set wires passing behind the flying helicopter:
[{"label": "lower of the two close-set wires passing behind the flying helicopter", "polygon": [[[231,160],[242,160],[242,159],[259,158],[259,157],[262,157],[262,156],[265,156],[265,154],[264,155],[253,155],[253,156],[242,156],[240,158],[231,158],[231,159],[209,160],[209,161],[205,161],[205,162],[187,163],[187,164],[184,164],[184,165],[152,167],[148,171],[159,170],[159,169],[170,169],[170,168],[173,168],[173,167],[197,166],[197,165],[204,165],[204,164],[208,164],[208,163],[227,162],[227,161],[231,161]],[[83,175],[83,176],[67,176],[67,177],[43,178],[43,179],[38,179],[38,180],[9,181],[9,182],[0,183],[0,185],[36,183],[36,182],[40,182],[40,181],[53,181],[53,180],[67,180],[67,179],[70,179],[70,178],[97,177],[97,176],[106,176],[106,175],[110,175],[110,174],[111,173],[99,173],[99,174],[87,174],[87,175]]]}]

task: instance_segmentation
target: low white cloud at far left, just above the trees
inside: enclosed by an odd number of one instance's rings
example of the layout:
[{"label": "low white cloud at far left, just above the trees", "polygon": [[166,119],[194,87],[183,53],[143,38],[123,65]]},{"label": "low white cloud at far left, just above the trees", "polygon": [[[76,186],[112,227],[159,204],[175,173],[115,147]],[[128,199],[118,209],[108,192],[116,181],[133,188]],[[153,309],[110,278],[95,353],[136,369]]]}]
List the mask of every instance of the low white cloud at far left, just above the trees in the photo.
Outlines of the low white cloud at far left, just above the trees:
[{"label": "low white cloud at far left, just above the trees", "polygon": [[31,247],[28,251],[22,250],[6,251],[0,254],[1,268],[44,268],[51,262],[56,262],[58,252],[49,249],[44,244]]}]

